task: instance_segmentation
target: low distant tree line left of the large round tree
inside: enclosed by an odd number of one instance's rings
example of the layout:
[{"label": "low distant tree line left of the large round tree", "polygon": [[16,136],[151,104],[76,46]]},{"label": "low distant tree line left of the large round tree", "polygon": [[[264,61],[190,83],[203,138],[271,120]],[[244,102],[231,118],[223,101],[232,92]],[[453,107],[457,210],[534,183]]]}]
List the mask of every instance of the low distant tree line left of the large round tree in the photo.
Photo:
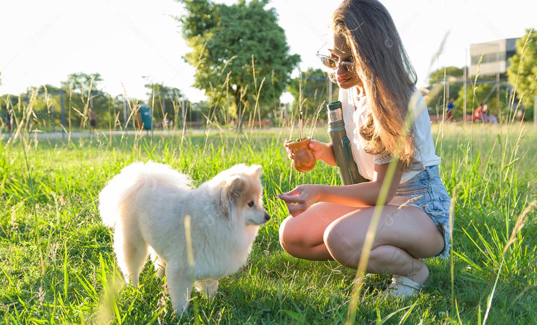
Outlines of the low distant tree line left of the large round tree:
[{"label": "low distant tree line left of the large round tree", "polygon": [[181,124],[183,112],[186,121],[201,121],[204,120],[203,115],[209,112],[209,106],[204,102],[192,104],[177,88],[163,83],[146,84],[147,97],[144,99],[126,99],[124,95],[113,96],[103,91],[102,82],[99,73],[76,72],[68,75],[59,87],[47,84],[28,87],[26,93],[18,95],[1,95],[0,126],[8,122],[8,108],[20,121],[23,110],[31,105],[33,116],[28,126],[59,131],[62,129],[62,101],[63,127],[66,129],[89,128],[91,111],[95,112],[93,116],[96,117],[97,128],[123,128],[126,123],[125,108],[128,119],[132,108],[140,104],[153,108],[154,122],[162,122],[165,118],[170,123]]}]

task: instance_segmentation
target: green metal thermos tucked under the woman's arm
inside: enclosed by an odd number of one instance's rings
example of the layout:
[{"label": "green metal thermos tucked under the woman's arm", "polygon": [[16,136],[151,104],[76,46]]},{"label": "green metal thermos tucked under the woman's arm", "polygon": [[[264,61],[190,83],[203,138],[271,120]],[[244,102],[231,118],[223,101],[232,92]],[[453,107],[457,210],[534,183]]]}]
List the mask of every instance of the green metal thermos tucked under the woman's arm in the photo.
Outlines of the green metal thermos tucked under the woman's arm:
[{"label": "green metal thermos tucked under the woman's arm", "polygon": [[356,166],[352,157],[351,143],[347,138],[345,123],[343,122],[341,102],[339,100],[333,101],[326,107],[328,108],[328,135],[330,136],[332,151],[342,183],[351,185],[366,182],[367,179],[360,175],[358,166]]}]

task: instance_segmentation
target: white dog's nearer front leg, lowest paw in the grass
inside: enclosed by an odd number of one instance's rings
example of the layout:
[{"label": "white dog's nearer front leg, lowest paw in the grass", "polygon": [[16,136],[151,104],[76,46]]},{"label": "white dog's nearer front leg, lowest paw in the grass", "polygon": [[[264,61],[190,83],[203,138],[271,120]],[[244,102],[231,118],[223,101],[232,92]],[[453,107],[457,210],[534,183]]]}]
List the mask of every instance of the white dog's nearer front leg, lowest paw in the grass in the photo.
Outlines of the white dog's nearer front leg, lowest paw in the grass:
[{"label": "white dog's nearer front leg, lowest paw in the grass", "polygon": [[192,279],[188,268],[178,263],[166,264],[166,283],[172,307],[177,313],[186,312],[192,290]]}]

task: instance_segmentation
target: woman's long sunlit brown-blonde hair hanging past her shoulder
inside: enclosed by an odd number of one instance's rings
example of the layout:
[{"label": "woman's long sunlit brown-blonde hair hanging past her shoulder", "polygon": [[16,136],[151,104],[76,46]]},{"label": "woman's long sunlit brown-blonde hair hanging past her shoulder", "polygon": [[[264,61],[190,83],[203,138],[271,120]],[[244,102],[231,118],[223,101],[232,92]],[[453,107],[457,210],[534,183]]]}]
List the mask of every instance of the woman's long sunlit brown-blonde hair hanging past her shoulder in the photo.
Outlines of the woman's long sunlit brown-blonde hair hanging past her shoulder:
[{"label": "woman's long sunlit brown-blonde hair hanging past her shoulder", "polygon": [[389,153],[409,168],[415,144],[405,117],[417,77],[393,19],[377,0],[345,0],[333,13],[332,29],[352,49],[364,83],[367,118],[360,135],[366,152]]}]

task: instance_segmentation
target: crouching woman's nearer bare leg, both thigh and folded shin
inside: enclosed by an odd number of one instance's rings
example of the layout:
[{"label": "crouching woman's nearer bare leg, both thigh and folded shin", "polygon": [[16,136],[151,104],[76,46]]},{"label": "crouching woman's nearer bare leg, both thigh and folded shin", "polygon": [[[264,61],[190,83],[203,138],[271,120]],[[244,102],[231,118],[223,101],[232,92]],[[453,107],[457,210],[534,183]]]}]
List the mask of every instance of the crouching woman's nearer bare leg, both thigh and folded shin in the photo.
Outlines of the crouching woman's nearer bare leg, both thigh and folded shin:
[{"label": "crouching woman's nearer bare leg, both thigh and folded shin", "polygon": [[[423,210],[416,206],[396,211],[397,208],[383,208],[366,271],[402,275],[423,283],[429,271],[418,258],[438,254],[444,248],[444,238]],[[324,243],[336,261],[350,268],[358,267],[373,210],[374,207],[362,208],[326,227]]]}]

